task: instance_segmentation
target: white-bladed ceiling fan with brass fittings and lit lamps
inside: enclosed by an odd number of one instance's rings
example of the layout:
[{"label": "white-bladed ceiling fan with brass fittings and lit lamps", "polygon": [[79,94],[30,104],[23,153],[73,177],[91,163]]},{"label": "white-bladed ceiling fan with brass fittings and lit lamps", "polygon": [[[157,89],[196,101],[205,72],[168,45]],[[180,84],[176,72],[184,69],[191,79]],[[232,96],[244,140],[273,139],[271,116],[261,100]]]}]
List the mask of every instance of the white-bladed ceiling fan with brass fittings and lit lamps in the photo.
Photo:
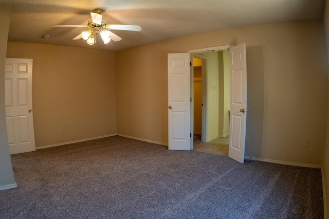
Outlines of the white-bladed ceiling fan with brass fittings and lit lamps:
[{"label": "white-bladed ceiling fan with brass fittings and lit lamps", "polygon": [[141,31],[141,27],[138,25],[122,25],[122,24],[106,24],[105,20],[102,20],[102,9],[95,9],[90,12],[92,19],[88,20],[88,25],[54,25],[52,27],[86,27],[90,28],[77,35],[72,40],[80,40],[81,38],[86,40],[87,44],[94,45],[96,43],[96,35],[100,34],[104,44],[113,40],[114,42],[122,40],[120,36],[109,30],[130,30]]}]

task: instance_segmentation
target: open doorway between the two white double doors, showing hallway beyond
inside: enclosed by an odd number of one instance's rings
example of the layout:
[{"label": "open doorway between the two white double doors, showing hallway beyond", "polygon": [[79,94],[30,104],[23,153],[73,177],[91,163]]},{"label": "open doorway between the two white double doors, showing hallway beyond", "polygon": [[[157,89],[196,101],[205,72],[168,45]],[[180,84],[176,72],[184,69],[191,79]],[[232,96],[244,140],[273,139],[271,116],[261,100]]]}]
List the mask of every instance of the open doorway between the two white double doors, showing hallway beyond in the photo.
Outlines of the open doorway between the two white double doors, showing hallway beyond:
[{"label": "open doorway between the two white double doors, showing hallway beyond", "polygon": [[193,54],[195,150],[228,156],[229,60],[227,49]]}]

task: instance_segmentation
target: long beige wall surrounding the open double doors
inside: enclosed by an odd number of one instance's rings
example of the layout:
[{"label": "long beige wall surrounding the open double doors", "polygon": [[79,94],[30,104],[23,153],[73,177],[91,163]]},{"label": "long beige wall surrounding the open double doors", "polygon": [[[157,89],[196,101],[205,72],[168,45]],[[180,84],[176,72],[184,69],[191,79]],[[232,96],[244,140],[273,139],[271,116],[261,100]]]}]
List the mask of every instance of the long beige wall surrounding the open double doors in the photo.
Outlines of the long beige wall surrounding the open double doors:
[{"label": "long beige wall surrounding the open double doors", "polygon": [[[248,93],[263,91],[248,95],[246,156],[321,165],[328,108],[322,21],[218,30],[117,52],[117,132],[168,143],[167,53],[240,43],[251,57]],[[252,135],[261,142],[250,143]]]}]

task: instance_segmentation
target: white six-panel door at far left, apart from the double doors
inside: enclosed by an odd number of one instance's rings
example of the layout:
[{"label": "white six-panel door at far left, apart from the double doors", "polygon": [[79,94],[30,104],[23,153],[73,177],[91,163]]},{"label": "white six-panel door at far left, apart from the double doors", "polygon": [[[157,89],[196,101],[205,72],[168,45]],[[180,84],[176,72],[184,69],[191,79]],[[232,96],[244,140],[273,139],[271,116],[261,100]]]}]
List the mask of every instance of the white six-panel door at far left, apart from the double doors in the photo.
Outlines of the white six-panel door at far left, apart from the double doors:
[{"label": "white six-panel door at far left, apart from the double doors", "polygon": [[5,104],[10,154],[35,151],[32,59],[6,59]]}]

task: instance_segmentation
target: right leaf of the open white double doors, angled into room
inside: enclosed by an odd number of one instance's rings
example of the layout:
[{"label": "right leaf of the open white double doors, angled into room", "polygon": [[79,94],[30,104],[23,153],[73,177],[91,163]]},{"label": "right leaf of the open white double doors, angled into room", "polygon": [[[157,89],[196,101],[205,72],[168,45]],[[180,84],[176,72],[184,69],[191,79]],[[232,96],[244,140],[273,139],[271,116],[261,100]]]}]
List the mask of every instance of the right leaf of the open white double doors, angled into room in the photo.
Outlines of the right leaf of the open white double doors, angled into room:
[{"label": "right leaf of the open white double doors, angled into room", "polygon": [[228,156],[244,163],[247,117],[246,44],[230,48],[231,118]]}]

